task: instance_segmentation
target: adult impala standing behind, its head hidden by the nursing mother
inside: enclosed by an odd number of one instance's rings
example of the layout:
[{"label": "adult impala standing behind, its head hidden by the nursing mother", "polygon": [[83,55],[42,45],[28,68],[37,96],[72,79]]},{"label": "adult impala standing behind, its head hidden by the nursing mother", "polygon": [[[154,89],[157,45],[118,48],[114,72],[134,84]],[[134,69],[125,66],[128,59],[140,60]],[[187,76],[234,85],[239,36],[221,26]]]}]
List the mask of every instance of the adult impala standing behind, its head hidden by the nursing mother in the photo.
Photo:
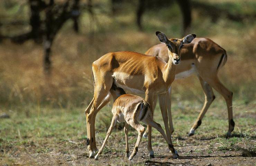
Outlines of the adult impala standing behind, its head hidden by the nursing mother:
[{"label": "adult impala standing behind, its head hidden by the nursing mother", "polygon": [[[168,62],[169,60],[168,49],[164,44],[157,44],[149,48],[145,54],[161,57],[165,62]],[[193,73],[196,74],[205,95],[203,108],[194,125],[190,129],[189,136],[194,135],[195,130],[200,126],[202,122],[204,114],[207,112],[212,101],[215,99],[212,87],[226,100],[229,122],[227,135],[230,136],[235,126],[232,112],[233,93],[220,82],[217,75],[220,68],[225,65],[227,61],[226,50],[221,48],[218,44],[214,43],[210,39],[195,38],[190,44],[184,45],[181,50],[181,57],[182,63],[176,67],[175,79],[182,79],[190,76]],[[170,133],[172,133],[174,129],[171,116],[171,89],[168,91],[167,98],[170,98],[170,102],[167,102],[167,110]],[[157,99],[154,101],[153,109],[155,107],[156,100]],[[144,133],[144,137],[145,136],[147,136],[147,131]]]}]

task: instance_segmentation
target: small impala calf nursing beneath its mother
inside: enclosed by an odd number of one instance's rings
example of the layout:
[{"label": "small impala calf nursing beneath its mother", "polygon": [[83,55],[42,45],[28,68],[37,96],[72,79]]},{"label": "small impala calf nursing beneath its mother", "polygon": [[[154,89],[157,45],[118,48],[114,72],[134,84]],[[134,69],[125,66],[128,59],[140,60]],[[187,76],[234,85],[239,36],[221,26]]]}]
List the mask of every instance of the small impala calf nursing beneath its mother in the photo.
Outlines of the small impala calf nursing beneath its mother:
[{"label": "small impala calf nursing beneath its mother", "polygon": [[[157,129],[164,139],[166,140],[169,149],[173,152],[173,158],[177,158],[177,151],[174,149],[172,143],[167,139],[164,130],[162,129],[161,125],[156,123],[153,120],[153,113],[150,111],[149,103],[146,102],[143,98],[131,94],[125,94],[125,91],[122,90],[119,87],[116,87],[116,85],[112,85],[110,89],[111,94],[113,95],[113,98],[115,100],[112,108],[113,118],[111,121],[111,125],[108,129],[106,138],[98,152],[98,154],[95,156],[95,159],[97,160],[99,157],[99,154],[102,153],[102,150],[111,134],[111,131],[113,130],[116,122],[125,122],[125,141],[126,141],[126,157],[129,157],[129,146],[128,146],[128,129],[129,125],[137,130],[138,132],[138,138],[134,147],[134,150],[132,151],[129,160],[132,160],[132,158],[137,154],[138,147],[140,140],[143,136],[143,133],[145,131],[145,128],[139,123],[139,121],[142,121],[146,123],[147,125],[150,125]],[[118,95],[121,95],[117,98]],[[117,98],[117,99],[116,99]]]}]

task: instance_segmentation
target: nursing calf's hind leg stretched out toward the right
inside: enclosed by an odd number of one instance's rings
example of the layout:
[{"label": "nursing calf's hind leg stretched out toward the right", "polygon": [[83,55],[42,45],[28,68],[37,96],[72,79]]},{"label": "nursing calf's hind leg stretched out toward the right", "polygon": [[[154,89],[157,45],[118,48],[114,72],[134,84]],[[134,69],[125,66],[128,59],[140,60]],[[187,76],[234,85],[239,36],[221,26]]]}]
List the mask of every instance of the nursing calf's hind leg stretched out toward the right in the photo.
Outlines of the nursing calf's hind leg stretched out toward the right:
[{"label": "nursing calf's hind leg stretched out toward the right", "polygon": [[171,141],[168,140],[168,138],[165,135],[164,130],[161,127],[161,125],[159,123],[156,123],[153,119],[146,119],[143,122],[145,122],[146,124],[154,127],[155,129],[157,129],[157,131],[159,131],[162,134],[162,136],[164,137],[165,141],[168,144],[168,148],[172,151],[173,158],[177,158],[178,157],[178,152],[177,152],[177,150],[174,149],[173,144],[172,144],[172,140]]}]

